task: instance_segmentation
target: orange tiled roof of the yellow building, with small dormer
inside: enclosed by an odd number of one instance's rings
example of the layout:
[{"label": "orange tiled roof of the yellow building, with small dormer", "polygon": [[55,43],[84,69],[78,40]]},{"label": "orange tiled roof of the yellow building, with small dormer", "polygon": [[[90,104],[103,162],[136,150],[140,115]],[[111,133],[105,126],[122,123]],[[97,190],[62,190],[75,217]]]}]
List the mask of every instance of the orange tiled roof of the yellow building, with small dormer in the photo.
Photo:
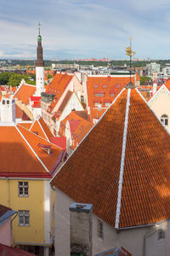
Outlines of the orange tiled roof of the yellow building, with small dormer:
[{"label": "orange tiled roof of the yellow building, with small dormer", "polygon": [[[0,177],[50,177],[62,149],[20,125],[0,126]],[[51,146],[51,155],[38,144]]]}]

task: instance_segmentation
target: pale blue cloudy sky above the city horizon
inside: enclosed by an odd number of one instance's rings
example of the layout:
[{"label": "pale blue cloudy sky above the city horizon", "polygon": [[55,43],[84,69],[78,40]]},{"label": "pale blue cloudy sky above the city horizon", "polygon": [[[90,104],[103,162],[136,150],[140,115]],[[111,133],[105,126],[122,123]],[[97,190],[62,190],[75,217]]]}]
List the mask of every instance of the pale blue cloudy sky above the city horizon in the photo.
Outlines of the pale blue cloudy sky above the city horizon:
[{"label": "pale blue cloudy sky above the city horizon", "polygon": [[169,0],[0,0],[0,59],[170,59]]}]

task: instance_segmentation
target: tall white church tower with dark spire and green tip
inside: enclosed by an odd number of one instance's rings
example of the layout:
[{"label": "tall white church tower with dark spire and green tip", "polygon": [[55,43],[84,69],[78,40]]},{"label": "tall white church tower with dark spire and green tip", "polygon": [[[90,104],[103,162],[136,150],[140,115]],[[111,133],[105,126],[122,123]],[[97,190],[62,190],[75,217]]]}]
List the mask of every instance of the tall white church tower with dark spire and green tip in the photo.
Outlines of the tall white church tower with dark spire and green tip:
[{"label": "tall white church tower with dark spire and green tip", "polygon": [[36,61],[36,96],[41,96],[44,90],[44,62],[42,57],[42,37],[40,34],[40,22],[38,23],[38,36],[37,36],[37,61]]}]

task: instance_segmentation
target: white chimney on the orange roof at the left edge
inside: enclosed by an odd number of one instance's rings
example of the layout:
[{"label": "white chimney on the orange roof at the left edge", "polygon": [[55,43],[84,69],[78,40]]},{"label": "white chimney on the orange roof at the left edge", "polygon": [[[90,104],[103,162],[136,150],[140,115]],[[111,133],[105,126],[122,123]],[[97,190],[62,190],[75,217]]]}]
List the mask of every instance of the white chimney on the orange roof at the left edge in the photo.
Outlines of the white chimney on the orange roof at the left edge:
[{"label": "white chimney on the orange roof at the left edge", "polygon": [[15,123],[15,100],[10,97],[2,97],[1,103],[1,122],[2,123]]}]

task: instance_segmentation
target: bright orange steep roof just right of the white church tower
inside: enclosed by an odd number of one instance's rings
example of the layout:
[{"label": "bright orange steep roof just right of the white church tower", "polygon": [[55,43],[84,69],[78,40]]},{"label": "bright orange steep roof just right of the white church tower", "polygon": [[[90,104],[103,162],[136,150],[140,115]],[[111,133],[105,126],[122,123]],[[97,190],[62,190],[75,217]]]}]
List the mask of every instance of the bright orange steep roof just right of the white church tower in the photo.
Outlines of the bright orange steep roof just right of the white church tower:
[{"label": "bright orange steep roof just right of the white church tower", "polygon": [[55,105],[59,101],[60,96],[62,96],[66,86],[69,84],[72,78],[73,75],[67,73],[56,73],[54,75],[54,79],[50,84],[48,84],[46,92],[55,94],[54,100],[50,105],[50,112],[54,109]]}]

